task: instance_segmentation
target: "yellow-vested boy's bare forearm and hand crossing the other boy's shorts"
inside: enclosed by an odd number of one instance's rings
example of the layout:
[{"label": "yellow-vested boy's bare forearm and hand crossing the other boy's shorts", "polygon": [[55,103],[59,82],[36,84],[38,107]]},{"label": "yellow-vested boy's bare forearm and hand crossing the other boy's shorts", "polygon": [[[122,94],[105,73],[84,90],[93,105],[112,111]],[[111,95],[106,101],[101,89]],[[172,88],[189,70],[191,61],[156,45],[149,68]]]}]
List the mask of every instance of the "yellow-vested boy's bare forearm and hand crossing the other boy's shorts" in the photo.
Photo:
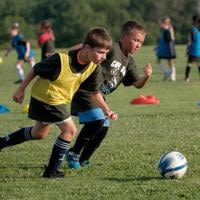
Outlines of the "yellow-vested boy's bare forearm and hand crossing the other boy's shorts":
[{"label": "yellow-vested boy's bare forearm and hand crossing the other boy's shorts", "polygon": [[109,108],[100,92],[91,93],[91,98],[110,119],[117,120],[118,115]]}]

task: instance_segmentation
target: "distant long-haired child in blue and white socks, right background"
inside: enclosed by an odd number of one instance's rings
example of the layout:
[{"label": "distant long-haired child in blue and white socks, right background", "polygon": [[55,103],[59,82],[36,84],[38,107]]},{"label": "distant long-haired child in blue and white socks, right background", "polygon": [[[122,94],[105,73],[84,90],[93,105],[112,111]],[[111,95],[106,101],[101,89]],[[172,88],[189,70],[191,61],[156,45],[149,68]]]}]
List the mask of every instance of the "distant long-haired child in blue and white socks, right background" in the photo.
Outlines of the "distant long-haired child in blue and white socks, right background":
[{"label": "distant long-haired child in blue and white socks, right background", "polygon": [[[164,77],[163,81],[170,79],[176,80],[176,69],[173,59],[176,58],[175,51],[175,36],[171,20],[168,16],[160,20],[161,35],[156,46],[157,63],[162,70]],[[167,60],[168,68],[166,68],[161,60]]]}]

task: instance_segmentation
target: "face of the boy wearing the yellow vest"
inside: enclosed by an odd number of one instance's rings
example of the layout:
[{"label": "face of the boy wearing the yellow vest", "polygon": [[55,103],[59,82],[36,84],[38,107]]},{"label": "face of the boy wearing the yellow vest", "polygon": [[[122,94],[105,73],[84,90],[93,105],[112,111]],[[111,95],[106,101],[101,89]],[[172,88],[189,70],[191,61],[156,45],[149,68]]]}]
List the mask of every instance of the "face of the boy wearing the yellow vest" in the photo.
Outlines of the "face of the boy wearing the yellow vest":
[{"label": "face of the boy wearing the yellow vest", "polygon": [[100,64],[106,59],[106,55],[109,52],[109,49],[95,47],[90,48],[89,50],[89,60],[95,64]]}]

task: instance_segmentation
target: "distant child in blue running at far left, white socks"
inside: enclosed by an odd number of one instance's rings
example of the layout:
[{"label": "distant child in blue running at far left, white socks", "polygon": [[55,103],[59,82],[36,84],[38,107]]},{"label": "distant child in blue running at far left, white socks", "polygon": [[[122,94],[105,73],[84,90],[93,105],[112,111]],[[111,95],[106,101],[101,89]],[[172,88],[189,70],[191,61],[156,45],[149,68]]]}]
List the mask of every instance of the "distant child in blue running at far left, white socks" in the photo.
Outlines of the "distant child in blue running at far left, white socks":
[{"label": "distant child in blue running at far left, white socks", "polygon": [[[15,81],[15,84],[21,83],[24,78],[24,70],[23,65],[24,62],[28,62],[30,67],[33,67],[35,64],[34,51],[30,47],[30,42],[24,39],[24,37],[19,33],[19,24],[14,23],[10,28],[11,35],[11,44],[12,47],[17,52],[17,62],[16,62],[16,70],[19,75],[19,80]],[[7,49],[5,56],[12,50],[12,48]]]}]

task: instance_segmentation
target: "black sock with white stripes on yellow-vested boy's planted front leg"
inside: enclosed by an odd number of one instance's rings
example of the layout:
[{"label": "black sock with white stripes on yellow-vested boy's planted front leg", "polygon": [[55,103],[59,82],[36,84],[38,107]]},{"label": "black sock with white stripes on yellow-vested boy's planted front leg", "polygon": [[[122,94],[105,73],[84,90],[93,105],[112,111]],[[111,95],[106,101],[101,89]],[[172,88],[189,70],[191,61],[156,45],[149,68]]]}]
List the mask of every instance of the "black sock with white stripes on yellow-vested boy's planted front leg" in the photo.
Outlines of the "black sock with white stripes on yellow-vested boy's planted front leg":
[{"label": "black sock with white stripes on yellow-vested boy's planted front leg", "polygon": [[61,138],[57,138],[53,150],[51,153],[51,157],[49,159],[48,170],[50,171],[58,171],[62,161],[65,159],[65,155],[69,149],[70,142],[65,141]]}]

